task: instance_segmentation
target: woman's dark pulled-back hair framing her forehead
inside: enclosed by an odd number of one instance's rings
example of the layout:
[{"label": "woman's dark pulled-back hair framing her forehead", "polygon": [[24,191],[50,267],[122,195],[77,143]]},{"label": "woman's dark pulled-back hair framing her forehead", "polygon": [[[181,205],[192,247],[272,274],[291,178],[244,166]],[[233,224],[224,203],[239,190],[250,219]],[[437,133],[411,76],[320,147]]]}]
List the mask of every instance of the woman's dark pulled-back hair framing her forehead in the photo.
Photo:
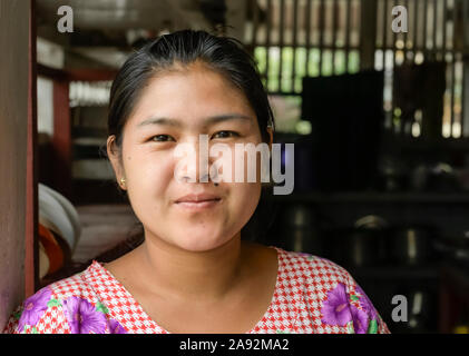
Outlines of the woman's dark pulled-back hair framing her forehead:
[{"label": "woman's dark pulled-back hair framing her forehead", "polygon": [[[274,129],[274,116],[255,60],[243,49],[243,44],[234,38],[217,37],[206,31],[182,30],[163,34],[136,50],[123,65],[113,82],[108,134],[115,135],[119,156],[124,126],[149,80],[179,66],[186,68],[198,61],[222,75],[245,95],[256,113],[263,141],[270,141],[266,128],[271,126]],[[268,194],[265,190],[271,188],[264,186],[262,195]],[[248,239],[257,240],[258,234],[265,231],[265,226],[262,226],[264,224],[258,220],[258,210],[262,210],[263,204],[264,199],[261,196],[260,205],[243,228],[243,238],[246,238],[247,234]],[[255,229],[260,231],[254,231],[252,226],[257,226]]]}]

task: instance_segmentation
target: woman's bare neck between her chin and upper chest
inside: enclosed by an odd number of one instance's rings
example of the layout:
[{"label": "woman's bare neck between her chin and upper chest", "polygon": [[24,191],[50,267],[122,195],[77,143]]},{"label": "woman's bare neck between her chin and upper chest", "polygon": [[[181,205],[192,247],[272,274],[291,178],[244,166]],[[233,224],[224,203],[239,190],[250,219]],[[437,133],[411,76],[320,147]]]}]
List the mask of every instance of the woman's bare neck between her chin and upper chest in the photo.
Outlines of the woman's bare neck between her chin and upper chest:
[{"label": "woman's bare neck between her chin and upper chest", "polygon": [[159,238],[146,238],[139,264],[148,290],[173,300],[216,303],[224,299],[243,275],[246,244],[241,234],[208,251],[187,251]]}]

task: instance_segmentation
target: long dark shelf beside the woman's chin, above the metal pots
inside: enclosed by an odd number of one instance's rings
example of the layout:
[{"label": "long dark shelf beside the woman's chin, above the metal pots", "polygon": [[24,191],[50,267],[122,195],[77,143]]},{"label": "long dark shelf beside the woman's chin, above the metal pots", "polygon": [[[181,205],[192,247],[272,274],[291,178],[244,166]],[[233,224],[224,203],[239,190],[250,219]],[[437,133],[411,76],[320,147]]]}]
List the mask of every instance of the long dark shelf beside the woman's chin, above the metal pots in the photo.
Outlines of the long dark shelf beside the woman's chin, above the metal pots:
[{"label": "long dark shelf beside the woman's chin, above the metal pots", "polygon": [[378,202],[378,204],[469,204],[469,191],[461,192],[296,192],[272,196],[276,202]]}]

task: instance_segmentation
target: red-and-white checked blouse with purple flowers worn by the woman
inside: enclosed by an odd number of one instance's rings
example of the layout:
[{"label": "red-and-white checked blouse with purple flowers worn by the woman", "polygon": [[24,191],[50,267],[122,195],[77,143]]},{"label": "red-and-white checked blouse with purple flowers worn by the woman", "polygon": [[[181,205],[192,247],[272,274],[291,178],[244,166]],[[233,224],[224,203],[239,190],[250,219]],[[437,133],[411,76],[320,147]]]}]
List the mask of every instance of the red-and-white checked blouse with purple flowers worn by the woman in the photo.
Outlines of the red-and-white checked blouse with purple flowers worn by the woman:
[{"label": "red-and-white checked blouse with purple flowers worn by the woman", "polygon": [[[246,334],[389,334],[351,275],[329,259],[277,250],[271,305]],[[98,261],[25,300],[9,334],[169,334]]]}]

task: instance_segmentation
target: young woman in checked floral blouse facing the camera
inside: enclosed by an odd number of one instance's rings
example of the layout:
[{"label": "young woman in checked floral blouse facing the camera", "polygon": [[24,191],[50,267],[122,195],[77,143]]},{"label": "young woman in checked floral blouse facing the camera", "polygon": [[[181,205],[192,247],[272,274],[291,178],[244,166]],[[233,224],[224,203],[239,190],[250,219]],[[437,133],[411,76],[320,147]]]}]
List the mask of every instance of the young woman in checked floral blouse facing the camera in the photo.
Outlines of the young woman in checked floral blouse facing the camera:
[{"label": "young woman in checked floral blouse facing the camera", "polygon": [[201,135],[272,147],[272,110],[241,43],[184,30],[144,46],[114,81],[108,126],[145,240],[39,290],[7,333],[389,333],[342,267],[244,238],[268,185],[202,179],[198,167],[215,165],[203,155],[176,169],[176,147],[199,154]]}]

